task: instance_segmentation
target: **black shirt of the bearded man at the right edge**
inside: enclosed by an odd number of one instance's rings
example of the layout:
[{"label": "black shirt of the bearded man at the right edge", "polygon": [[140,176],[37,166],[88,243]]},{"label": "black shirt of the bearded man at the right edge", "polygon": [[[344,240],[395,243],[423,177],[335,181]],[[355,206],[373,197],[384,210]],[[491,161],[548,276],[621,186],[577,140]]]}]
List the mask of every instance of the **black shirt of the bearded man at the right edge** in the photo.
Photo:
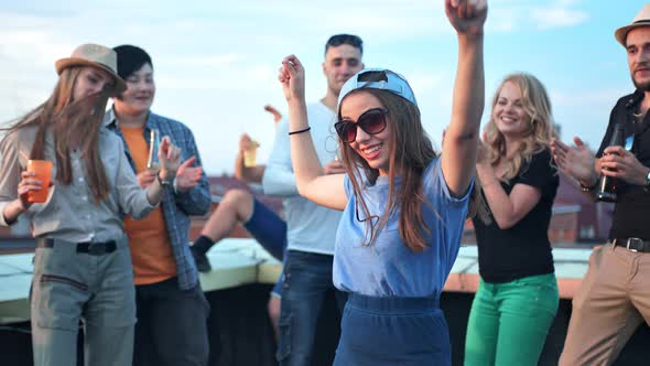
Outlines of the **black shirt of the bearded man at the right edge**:
[{"label": "black shirt of the bearded man at the right edge", "polygon": [[[650,118],[646,115],[642,122],[635,122],[633,112],[643,99],[643,93],[636,92],[620,99],[611,110],[607,132],[598,149],[597,158],[603,157],[603,151],[609,144],[616,123],[625,126],[626,149],[637,157],[639,162],[650,166]],[[614,217],[609,239],[636,237],[650,240],[650,192],[642,185],[628,184],[622,181],[617,183],[617,201],[614,206]]]}]

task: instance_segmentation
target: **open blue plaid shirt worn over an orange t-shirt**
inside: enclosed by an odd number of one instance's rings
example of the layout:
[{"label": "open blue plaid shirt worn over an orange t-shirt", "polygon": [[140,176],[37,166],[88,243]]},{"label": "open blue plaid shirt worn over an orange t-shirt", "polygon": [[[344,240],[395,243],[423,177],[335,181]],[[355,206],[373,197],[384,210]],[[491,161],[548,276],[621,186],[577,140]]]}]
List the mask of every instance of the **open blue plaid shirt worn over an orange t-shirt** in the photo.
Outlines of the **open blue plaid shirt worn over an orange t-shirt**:
[{"label": "open blue plaid shirt worn over an orange t-shirt", "polygon": [[[104,125],[117,133],[122,141],[124,140],[112,108],[106,112]],[[161,137],[169,136],[172,142],[181,148],[181,161],[185,161],[194,155],[196,157],[195,165],[202,165],[194,136],[185,125],[150,111],[144,131],[142,132],[147,143],[149,143],[151,129],[158,129]],[[127,153],[127,159],[131,168],[136,171],[136,164],[133,163],[126,141],[124,152]],[[189,252],[188,246],[189,215],[205,215],[209,211],[212,204],[209,183],[204,172],[198,185],[187,192],[174,192],[173,187],[166,187],[165,190],[161,205],[170,244],[172,245],[172,251],[176,261],[178,287],[181,290],[188,290],[198,283],[198,271],[196,270],[196,263]]]}]

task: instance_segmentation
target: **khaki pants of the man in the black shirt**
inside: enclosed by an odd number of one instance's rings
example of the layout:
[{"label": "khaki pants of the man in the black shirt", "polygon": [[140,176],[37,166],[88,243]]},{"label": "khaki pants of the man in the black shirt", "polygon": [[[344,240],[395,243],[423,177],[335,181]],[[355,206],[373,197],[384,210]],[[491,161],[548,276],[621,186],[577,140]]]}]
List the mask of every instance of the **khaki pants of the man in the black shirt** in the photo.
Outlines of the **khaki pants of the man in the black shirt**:
[{"label": "khaki pants of the man in the black shirt", "polygon": [[613,364],[643,320],[650,323],[650,254],[595,249],[573,299],[560,365]]}]

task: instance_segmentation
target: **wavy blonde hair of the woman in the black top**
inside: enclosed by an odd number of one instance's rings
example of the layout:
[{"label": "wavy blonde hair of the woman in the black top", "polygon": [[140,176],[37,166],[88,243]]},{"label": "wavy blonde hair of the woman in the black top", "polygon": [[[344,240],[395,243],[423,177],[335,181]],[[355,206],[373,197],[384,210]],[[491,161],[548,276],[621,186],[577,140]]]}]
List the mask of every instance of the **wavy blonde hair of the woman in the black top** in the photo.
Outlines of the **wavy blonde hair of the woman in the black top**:
[{"label": "wavy blonde hair of the woman in the black top", "polygon": [[492,114],[490,114],[490,120],[485,131],[489,161],[492,165],[498,165],[501,159],[507,159],[506,172],[501,179],[509,180],[519,173],[522,164],[530,162],[532,155],[550,148],[555,130],[553,129],[551,100],[546,88],[530,74],[507,75],[492,97],[492,110],[506,83],[514,84],[521,92],[523,110],[529,118],[528,129],[524,131],[518,151],[512,157],[506,157],[506,138],[497,128]]}]

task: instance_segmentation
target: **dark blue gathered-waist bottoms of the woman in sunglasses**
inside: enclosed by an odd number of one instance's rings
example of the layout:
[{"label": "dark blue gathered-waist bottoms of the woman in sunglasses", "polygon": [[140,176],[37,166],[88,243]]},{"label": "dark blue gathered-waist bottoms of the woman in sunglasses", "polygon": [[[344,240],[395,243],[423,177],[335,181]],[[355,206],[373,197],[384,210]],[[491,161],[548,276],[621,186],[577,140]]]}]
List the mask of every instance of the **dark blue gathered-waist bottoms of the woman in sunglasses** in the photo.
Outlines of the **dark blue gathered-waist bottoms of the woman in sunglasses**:
[{"label": "dark blue gathered-waist bottoms of the woman in sunglasses", "polygon": [[436,298],[375,298],[350,293],[335,366],[445,366],[449,332]]}]

